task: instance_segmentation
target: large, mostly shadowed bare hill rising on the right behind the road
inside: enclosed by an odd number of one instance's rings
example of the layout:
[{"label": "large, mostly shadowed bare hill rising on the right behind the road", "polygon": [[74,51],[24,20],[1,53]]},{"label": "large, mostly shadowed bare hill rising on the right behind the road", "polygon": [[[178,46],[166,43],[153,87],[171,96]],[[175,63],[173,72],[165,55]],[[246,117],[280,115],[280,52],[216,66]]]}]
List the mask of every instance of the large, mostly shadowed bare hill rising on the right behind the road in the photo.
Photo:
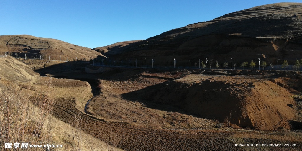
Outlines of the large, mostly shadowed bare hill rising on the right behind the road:
[{"label": "large, mostly shadowed bare hill rising on the right behind the road", "polygon": [[[215,11],[215,10],[213,10]],[[302,57],[302,3],[275,3],[236,11],[211,21],[198,22],[130,43],[114,58],[156,59],[159,65],[193,66],[198,59],[233,63],[260,57],[276,63],[276,57],[293,62]],[[149,61],[147,61],[149,63]]]}]

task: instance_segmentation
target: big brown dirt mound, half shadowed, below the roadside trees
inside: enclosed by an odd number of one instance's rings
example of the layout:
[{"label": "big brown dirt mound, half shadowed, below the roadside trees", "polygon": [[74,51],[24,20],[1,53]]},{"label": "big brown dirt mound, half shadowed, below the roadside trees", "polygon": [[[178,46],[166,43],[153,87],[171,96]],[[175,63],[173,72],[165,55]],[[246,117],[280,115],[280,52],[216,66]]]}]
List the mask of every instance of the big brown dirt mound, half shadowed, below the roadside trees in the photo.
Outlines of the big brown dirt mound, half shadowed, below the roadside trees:
[{"label": "big brown dirt mound, half shadowed, below the roadside trees", "polygon": [[287,105],[294,104],[291,93],[271,81],[253,76],[191,74],[124,96],[140,94],[151,101],[173,104],[188,113],[224,121],[236,128],[289,129],[288,120],[294,117],[294,110]]}]

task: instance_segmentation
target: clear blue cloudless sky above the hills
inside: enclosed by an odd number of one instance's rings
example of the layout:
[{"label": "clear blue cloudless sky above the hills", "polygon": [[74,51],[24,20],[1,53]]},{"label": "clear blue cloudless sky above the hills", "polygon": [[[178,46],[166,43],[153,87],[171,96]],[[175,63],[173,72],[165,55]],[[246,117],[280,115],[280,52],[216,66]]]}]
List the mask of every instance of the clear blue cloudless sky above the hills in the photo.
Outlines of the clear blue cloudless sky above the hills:
[{"label": "clear blue cloudless sky above the hills", "polygon": [[28,34],[95,48],[277,2],[284,1],[0,0],[0,35]]}]

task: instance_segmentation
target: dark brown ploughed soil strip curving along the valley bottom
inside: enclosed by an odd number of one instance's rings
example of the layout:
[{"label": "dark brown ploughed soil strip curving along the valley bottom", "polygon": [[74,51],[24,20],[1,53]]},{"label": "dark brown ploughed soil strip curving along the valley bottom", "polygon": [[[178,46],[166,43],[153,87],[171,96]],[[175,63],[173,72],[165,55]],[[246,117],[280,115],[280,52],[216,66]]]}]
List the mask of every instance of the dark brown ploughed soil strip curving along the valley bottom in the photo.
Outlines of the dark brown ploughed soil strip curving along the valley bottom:
[{"label": "dark brown ploughed soil strip curving along the valley bottom", "polygon": [[[130,124],[106,122],[83,114],[75,108],[75,102],[57,99],[53,114],[68,124],[74,115],[80,114],[86,133],[109,142],[113,136],[121,140],[118,147],[125,150],[245,150],[235,143],[295,143],[296,147],[282,149],[302,149],[302,137],[292,134],[255,131],[226,130],[163,130],[136,127]],[[249,149],[255,149],[250,147]],[[257,148],[280,150],[280,147]]]}]

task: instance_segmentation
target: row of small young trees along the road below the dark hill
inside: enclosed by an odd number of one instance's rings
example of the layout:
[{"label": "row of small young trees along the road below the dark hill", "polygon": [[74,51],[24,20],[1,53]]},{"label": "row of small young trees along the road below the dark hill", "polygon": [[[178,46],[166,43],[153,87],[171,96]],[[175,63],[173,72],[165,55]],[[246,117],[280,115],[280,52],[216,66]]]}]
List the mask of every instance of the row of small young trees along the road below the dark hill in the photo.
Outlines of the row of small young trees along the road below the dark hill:
[{"label": "row of small young trees along the road below the dark hill", "polygon": [[[210,68],[211,68],[212,63],[213,63],[213,59],[210,59],[210,61],[209,61]],[[223,67],[226,68],[228,66],[229,66],[228,62],[223,63]],[[256,66],[256,61],[251,60],[250,62],[246,61],[246,62],[243,62],[241,64],[239,64],[239,63],[233,63],[232,66],[234,67],[234,69],[237,66],[243,67],[243,69],[244,69],[244,67],[249,66],[250,68],[254,69],[255,66]],[[261,63],[259,64],[259,68],[260,68],[260,66],[262,67],[262,69],[265,69],[265,67],[268,66],[268,63],[266,63],[266,61],[262,60]],[[200,62],[200,67],[203,68],[203,69],[206,67],[206,65],[204,64],[203,61]],[[218,60],[216,60],[216,62],[215,62],[215,67],[217,69],[219,69],[219,67],[220,67],[220,64],[219,64]],[[284,70],[287,70],[288,67],[289,67],[288,61],[284,60],[283,63],[281,64],[281,68],[283,68]],[[297,71],[299,71],[301,67],[302,67],[302,59],[300,59],[300,60],[296,59],[296,61],[294,63],[294,68]]]}]

